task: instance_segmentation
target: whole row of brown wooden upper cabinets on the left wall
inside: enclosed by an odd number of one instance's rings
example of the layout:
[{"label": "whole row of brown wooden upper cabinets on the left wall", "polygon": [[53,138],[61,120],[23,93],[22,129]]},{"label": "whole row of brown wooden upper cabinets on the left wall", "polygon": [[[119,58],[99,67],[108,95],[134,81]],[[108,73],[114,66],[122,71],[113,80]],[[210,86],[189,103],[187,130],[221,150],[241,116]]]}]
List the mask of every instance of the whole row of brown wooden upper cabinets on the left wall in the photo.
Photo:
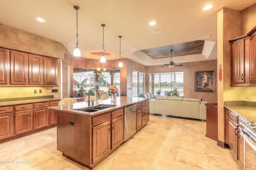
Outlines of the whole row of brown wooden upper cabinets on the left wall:
[{"label": "whole row of brown wooden upper cabinets on the left wall", "polygon": [[0,65],[0,86],[58,85],[57,59],[0,49]]}]

